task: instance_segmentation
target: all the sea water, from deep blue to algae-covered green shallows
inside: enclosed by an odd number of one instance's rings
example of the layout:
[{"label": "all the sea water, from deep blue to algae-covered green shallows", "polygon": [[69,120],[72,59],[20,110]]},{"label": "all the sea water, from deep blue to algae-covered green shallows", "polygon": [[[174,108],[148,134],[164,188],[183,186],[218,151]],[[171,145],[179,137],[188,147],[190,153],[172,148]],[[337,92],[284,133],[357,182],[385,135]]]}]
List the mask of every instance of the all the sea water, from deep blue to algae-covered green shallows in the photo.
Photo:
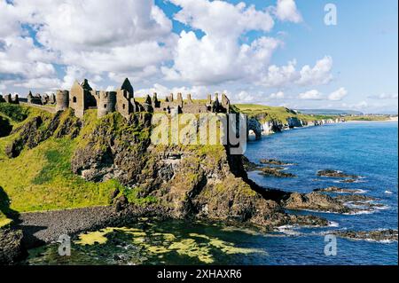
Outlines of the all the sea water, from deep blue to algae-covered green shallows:
[{"label": "all the sea water, from deep blue to algae-covered green shallows", "polygon": [[[218,223],[154,222],[143,219],[123,231],[91,234],[102,244],[73,243],[71,256],[59,256],[58,246],[30,251],[29,264],[397,264],[397,242],[337,239],[337,255],[327,256],[325,233],[331,230],[396,229],[398,204],[398,124],[364,122],[325,125],[250,142],[246,156],[254,162],[273,158],[294,163],[286,171],[295,178],[262,177],[256,183],[286,191],[309,193],[331,185],[364,190],[379,199],[372,213],[324,216],[332,225],[322,228],[281,227],[264,234],[252,228]],[[362,176],[358,183],[317,177],[317,170],[338,169]],[[102,237],[102,238],[101,238]],[[87,243],[87,242],[86,242]]]}]

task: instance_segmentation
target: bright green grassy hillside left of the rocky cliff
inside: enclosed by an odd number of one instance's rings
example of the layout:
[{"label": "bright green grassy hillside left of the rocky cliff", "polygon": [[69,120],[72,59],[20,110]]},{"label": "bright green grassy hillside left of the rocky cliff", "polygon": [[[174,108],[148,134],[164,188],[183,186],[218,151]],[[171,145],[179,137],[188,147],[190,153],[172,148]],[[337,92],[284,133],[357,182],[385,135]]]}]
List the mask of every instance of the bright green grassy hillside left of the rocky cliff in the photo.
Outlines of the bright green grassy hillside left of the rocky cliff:
[{"label": "bright green grassy hillside left of the rocky cliff", "polygon": [[[5,103],[0,103],[0,114],[10,120],[14,129],[12,135],[0,138],[0,226],[9,223],[5,215],[12,211],[102,206],[109,204],[110,195],[116,188],[123,191],[116,180],[94,183],[74,175],[71,156],[83,142],[82,138],[57,138],[58,130],[34,148],[26,147],[18,157],[9,158],[5,148],[20,138],[24,125],[40,116],[43,119],[40,132],[50,126],[54,115]],[[74,119],[71,111],[61,115],[61,121],[66,119]],[[97,122],[97,112],[89,111],[84,117],[82,132]]]}]

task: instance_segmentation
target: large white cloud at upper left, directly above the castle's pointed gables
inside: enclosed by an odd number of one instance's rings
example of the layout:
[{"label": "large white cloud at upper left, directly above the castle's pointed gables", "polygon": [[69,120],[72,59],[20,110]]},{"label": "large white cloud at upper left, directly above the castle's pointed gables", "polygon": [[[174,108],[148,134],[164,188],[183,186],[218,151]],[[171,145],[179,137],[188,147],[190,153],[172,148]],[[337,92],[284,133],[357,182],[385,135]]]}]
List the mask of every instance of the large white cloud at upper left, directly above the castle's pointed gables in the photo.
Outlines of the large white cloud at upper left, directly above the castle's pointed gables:
[{"label": "large white cloud at upper left, directly above the castle's pointed gables", "polygon": [[[172,22],[148,0],[13,1],[20,21],[55,51],[59,63],[102,72],[138,73],[171,58]],[[19,19],[14,19],[18,22]],[[94,75],[93,75],[94,76]]]}]

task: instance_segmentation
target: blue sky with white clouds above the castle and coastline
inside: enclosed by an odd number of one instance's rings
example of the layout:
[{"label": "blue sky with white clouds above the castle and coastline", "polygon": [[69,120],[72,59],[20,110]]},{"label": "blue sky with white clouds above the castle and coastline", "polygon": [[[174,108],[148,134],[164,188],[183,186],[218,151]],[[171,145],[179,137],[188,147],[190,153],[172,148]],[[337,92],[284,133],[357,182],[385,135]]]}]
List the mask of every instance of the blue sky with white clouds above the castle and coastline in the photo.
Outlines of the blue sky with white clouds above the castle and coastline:
[{"label": "blue sky with white clouds above the castle and coastline", "polygon": [[88,78],[136,96],[397,114],[396,0],[0,0],[0,93]]}]

